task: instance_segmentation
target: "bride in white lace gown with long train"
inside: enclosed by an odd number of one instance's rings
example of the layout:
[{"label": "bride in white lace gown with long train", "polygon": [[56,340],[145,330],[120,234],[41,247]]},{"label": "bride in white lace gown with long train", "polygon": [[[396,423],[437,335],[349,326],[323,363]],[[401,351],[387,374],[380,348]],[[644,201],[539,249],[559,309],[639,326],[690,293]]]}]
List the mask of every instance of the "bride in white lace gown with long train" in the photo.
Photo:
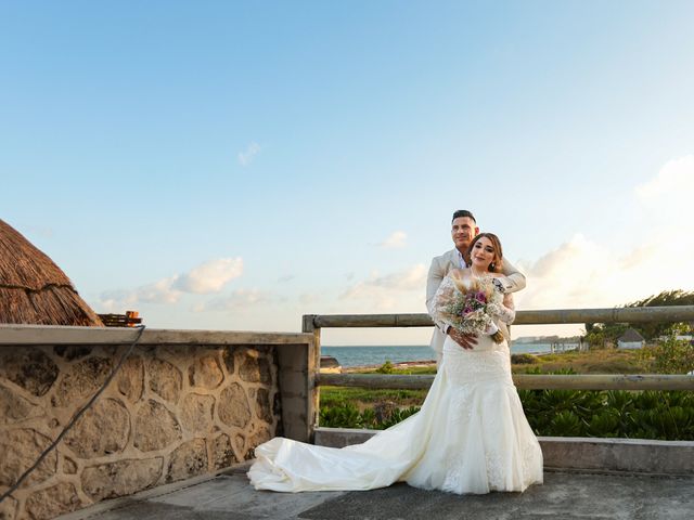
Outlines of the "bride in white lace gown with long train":
[{"label": "bride in white lace gown with long train", "polygon": [[[444,278],[430,309],[436,320],[454,327],[470,325],[461,323],[460,314],[458,321],[451,315],[457,295],[478,294],[484,286],[498,290],[488,282],[501,271],[501,244],[496,235],[481,233],[467,257],[470,269]],[[256,447],[252,484],[282,492],[358,491],[404,481],[426,490],[481,494],[541,483],[542,452],[511,378],[506,325],[515,317],[512,296],[494,294],[488,301],[494,320],[474,349],[447,337],[419,413],[343,448],[274,438]]]}]

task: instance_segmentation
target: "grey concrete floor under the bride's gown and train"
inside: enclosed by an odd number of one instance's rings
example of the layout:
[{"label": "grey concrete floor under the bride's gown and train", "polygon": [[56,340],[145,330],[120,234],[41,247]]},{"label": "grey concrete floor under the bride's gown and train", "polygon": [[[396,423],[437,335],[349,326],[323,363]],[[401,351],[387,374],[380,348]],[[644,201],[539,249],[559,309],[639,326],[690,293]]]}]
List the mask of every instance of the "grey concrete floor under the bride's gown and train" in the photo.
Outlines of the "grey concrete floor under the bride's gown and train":
[{"label": "grey concrete floor under the bride's gown and train", "polygon": [[396,484],[369,492],[253,490],[245,468],[157,487],[63,520],[692,519],[694,478],[545,472],[525,493],[452,495]]}]

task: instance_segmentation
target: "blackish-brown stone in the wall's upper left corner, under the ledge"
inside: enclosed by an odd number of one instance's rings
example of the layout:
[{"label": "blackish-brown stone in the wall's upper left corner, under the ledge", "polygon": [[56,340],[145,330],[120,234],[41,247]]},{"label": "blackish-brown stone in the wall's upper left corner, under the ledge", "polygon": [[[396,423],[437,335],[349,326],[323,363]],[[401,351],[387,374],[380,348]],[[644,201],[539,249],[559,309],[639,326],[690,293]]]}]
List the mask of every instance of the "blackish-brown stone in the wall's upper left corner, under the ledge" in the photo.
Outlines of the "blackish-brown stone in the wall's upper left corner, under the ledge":
[{"label": "blackish-brown stone in the wall's upper left corner, under the ledge", "polygon": [[27,392],[40,396],[49,391],[57,378],[57,366],[37,348],[13,349],[0,360],[8,379]]}]

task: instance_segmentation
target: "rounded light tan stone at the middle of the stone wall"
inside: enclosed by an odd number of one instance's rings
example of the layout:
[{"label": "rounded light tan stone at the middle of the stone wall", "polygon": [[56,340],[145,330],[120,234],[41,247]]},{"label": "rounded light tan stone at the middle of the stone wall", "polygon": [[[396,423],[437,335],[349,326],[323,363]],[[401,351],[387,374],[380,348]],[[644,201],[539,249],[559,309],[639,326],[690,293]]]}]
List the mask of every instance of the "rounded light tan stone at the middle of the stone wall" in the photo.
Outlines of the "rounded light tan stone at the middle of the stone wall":
[{"label": "rounded light tan stone at the middle of the stone wall", "polygon": [[149,400],[134,419],[133,445],[142,452],[162,450],[181,439],[181,427],[166,406]]}]

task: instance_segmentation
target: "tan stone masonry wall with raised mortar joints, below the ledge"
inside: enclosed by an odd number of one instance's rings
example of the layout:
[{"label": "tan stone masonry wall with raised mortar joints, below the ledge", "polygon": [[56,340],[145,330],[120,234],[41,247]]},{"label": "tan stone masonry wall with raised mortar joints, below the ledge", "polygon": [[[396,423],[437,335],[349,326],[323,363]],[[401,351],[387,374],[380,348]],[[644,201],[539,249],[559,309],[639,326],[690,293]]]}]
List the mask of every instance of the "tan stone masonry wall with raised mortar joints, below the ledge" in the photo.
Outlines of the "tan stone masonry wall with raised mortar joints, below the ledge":
[{"label": "tan stone masonry wall with raised mortar joints, below the ledge", "polygon": [[[0,492],[101,387],[126,347],[0,347]],[[275,347],[142,346],[0,504],[43,519],[229,467],[278,433]]]}]

